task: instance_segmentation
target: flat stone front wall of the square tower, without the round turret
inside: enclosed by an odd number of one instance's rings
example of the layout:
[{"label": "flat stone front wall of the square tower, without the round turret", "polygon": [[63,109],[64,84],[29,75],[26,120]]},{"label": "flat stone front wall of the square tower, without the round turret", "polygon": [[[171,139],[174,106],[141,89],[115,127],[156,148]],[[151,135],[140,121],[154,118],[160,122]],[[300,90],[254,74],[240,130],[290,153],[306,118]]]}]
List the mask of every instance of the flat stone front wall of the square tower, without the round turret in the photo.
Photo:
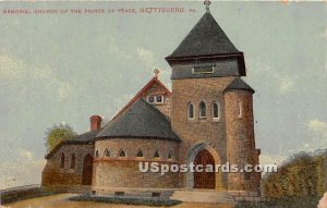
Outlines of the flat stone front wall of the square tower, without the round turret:
[{"label": "flat stone front wall of the square tower, without the round turret", "polygon": [[[181,162],[192,162],[187,159],[193,149],[201,144],[211,148],[216,154],[216,164],[226,162],[226,114],[222,90],[233,77],[187,78],[172,81],[171,124],[173,131],[183,139],[181,144]],[[207,118],[198,117],[198,103],[205,101]],[[220,118],[213,119],[213,103],[219,102]],[[194,105],[194,119],[187,119],[187,103]],[[215,157],[214,157],[215,158]],[[226,175],[216,180],[216,189],[226,189]],[[181,187],[187,187],[187,175],[181,174]]]}]

